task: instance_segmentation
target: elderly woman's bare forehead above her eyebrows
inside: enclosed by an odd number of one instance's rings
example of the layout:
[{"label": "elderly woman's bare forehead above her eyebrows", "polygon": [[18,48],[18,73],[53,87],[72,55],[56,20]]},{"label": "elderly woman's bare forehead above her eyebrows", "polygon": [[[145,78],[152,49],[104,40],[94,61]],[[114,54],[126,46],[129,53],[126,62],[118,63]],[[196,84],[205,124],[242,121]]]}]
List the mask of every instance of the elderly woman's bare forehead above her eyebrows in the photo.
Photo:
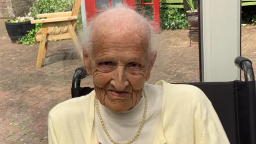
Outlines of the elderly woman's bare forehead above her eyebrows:
[{"label": "elderly woman's bare forehead above her eyebrows", "polygon": [[[127,25],[127,23],[125,24]],[[135,26],[99,26],[95,27],[92,33],[92,44],[94,49],[108,47],[109,45],[119,45],[119,47],[147,48],[150,34],[145,28]],[[100,45],[100,46],[99,46]],[[117,46],[118,47],[118,46]]]}]

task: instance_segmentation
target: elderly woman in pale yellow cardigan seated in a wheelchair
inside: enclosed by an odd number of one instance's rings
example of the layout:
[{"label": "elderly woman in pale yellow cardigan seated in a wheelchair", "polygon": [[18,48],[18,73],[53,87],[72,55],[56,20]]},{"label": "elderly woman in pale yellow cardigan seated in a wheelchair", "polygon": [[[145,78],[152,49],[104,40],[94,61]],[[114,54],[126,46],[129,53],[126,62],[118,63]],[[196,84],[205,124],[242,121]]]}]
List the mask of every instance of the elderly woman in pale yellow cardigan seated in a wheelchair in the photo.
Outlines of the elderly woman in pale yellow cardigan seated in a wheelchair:
[{"label": "elderly woman in pale yellow cardigan seated in a wheelchair", "polygon": [[103,12],[90,23],[89,38],[83,57],[95,91],[50,111],[49,143],[229,143],[201,90],[145,83],[157,52],[140,14],[126,7]]}]

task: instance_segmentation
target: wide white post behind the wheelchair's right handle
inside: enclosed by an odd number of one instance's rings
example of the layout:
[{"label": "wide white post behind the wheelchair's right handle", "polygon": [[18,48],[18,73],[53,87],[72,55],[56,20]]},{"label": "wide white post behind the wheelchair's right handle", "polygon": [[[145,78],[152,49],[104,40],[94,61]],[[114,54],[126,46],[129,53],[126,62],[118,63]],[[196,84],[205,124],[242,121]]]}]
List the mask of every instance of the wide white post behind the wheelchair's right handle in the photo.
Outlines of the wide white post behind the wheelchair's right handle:
[{"label": "wide white post behind the wheelchair's right handle", "polygon": [[203,82],[239,80],[234,60],[241,55],[241,1],[201,0]]}]

